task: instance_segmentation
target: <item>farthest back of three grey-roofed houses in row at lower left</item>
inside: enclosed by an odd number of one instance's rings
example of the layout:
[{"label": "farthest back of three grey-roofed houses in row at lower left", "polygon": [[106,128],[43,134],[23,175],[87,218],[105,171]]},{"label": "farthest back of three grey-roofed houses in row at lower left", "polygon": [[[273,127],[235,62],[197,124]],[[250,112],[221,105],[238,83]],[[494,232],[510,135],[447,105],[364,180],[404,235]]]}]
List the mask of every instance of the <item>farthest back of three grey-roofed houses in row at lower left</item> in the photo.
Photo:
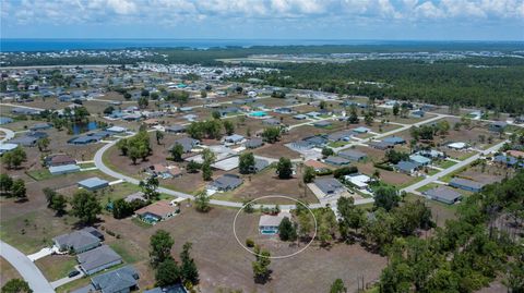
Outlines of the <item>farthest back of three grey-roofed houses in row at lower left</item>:
[{"label": "farthest back of three grey-roofed houses in row at lower left", "polygon": [[68,234],[56,236],[52,239],[52,242],[60,252],[71,251],[75,254],[80,254],[98,247],[100,245],[100,237],[98,237],[97,234],[93,233],[92,229],[82,229]]}]

